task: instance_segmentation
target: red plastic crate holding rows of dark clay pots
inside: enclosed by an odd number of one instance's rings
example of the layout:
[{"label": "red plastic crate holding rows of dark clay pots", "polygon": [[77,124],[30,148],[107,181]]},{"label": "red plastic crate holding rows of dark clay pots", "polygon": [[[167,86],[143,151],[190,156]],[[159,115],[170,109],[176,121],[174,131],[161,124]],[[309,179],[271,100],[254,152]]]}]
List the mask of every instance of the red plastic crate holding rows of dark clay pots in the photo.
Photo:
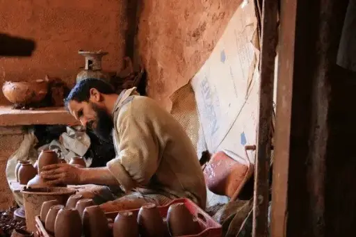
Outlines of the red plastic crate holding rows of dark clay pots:
[{"label": "red plastic crate holding rows of dark clay pots", "polygon": [[[167,217],[168,209],[170,205],[184,203],[186,208],[191,212],[191,214],[199,221],[202,231],[199,234],[190,235],[190,236],[179,236],[179,237],[221,237],[222,236],[222,227],[221,224],[213,220],[209,214],[203,211],[197,204],[191,201],[191,199],[181,198],[175,199],[165,206],[159,206],[159,212],[161,217],[165,219]],[[129,210],[132,211],[133,215],[138,215],[140,209]],[[115,220],[118,211],[106,213],[106,217],[112,220]],[[178,237],[178,236],[177,236]]]}]

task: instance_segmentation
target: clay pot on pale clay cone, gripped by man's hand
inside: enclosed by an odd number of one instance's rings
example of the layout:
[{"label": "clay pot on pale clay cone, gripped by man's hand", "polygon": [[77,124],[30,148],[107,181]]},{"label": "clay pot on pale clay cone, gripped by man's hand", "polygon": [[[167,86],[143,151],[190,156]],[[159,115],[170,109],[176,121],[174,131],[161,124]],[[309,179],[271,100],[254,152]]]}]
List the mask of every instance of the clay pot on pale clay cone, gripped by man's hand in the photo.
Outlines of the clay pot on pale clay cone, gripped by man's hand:
[{"label": "clay pot on pale clay cone, gripped by man's hand", "polygon": [[37,175],[33,177],[28,183],[27,188],[45,188],[49,187],[49,185],[44,179],[40,177],[40,173],[42,171],[42,167],[46,165],[58,164],[59,158],[53,150],[46,149],[42,150],[40,156],[38,156],[38,170]]}]

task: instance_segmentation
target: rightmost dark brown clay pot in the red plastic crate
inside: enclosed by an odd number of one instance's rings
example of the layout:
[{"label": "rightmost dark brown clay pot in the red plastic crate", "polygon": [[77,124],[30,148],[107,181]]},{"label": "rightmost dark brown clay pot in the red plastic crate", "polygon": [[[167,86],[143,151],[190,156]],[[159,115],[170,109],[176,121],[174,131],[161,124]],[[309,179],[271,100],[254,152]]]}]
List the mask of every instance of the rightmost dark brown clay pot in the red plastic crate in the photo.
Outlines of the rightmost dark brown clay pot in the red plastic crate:
[{"label": "rightmost dark brown clay pot in the red plastic crate", "polygon": [[197,222],[183,203],[172,204],[167,214],[168,229],[171,236],[188,236],[197,234]]}]

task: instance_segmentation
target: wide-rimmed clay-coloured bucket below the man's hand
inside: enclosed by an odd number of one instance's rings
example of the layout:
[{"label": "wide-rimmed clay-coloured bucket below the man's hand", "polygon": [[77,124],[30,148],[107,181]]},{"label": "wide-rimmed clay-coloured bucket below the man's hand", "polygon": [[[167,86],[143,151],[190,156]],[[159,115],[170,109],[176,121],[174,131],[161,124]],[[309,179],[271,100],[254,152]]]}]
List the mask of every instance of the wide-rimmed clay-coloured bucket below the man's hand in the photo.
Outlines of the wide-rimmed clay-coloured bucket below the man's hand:
[{"label": "wide-rimmed clay-coloured bucket below the man's hand", "polygon": [[40,215],[43,202],[56,199],[59,204],[65,205],[67,199],[76,193],[76,190],[61,187],[25,188],[21,193],[24,197],[26,228],[35,231],[35,216]]}]

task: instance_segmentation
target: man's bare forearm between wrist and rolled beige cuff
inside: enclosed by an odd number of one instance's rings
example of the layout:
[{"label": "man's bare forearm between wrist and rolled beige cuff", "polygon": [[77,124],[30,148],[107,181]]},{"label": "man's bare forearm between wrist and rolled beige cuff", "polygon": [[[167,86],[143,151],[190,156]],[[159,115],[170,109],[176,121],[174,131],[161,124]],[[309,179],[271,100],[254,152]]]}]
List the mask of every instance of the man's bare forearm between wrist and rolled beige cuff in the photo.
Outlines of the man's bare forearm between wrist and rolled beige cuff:
[{"label": "man's bare forearm between wrist and rolled beige cuff", "polygon": [[90,183],[106,186],[120,185],[107,167],[81,169],[80,184]]}]

